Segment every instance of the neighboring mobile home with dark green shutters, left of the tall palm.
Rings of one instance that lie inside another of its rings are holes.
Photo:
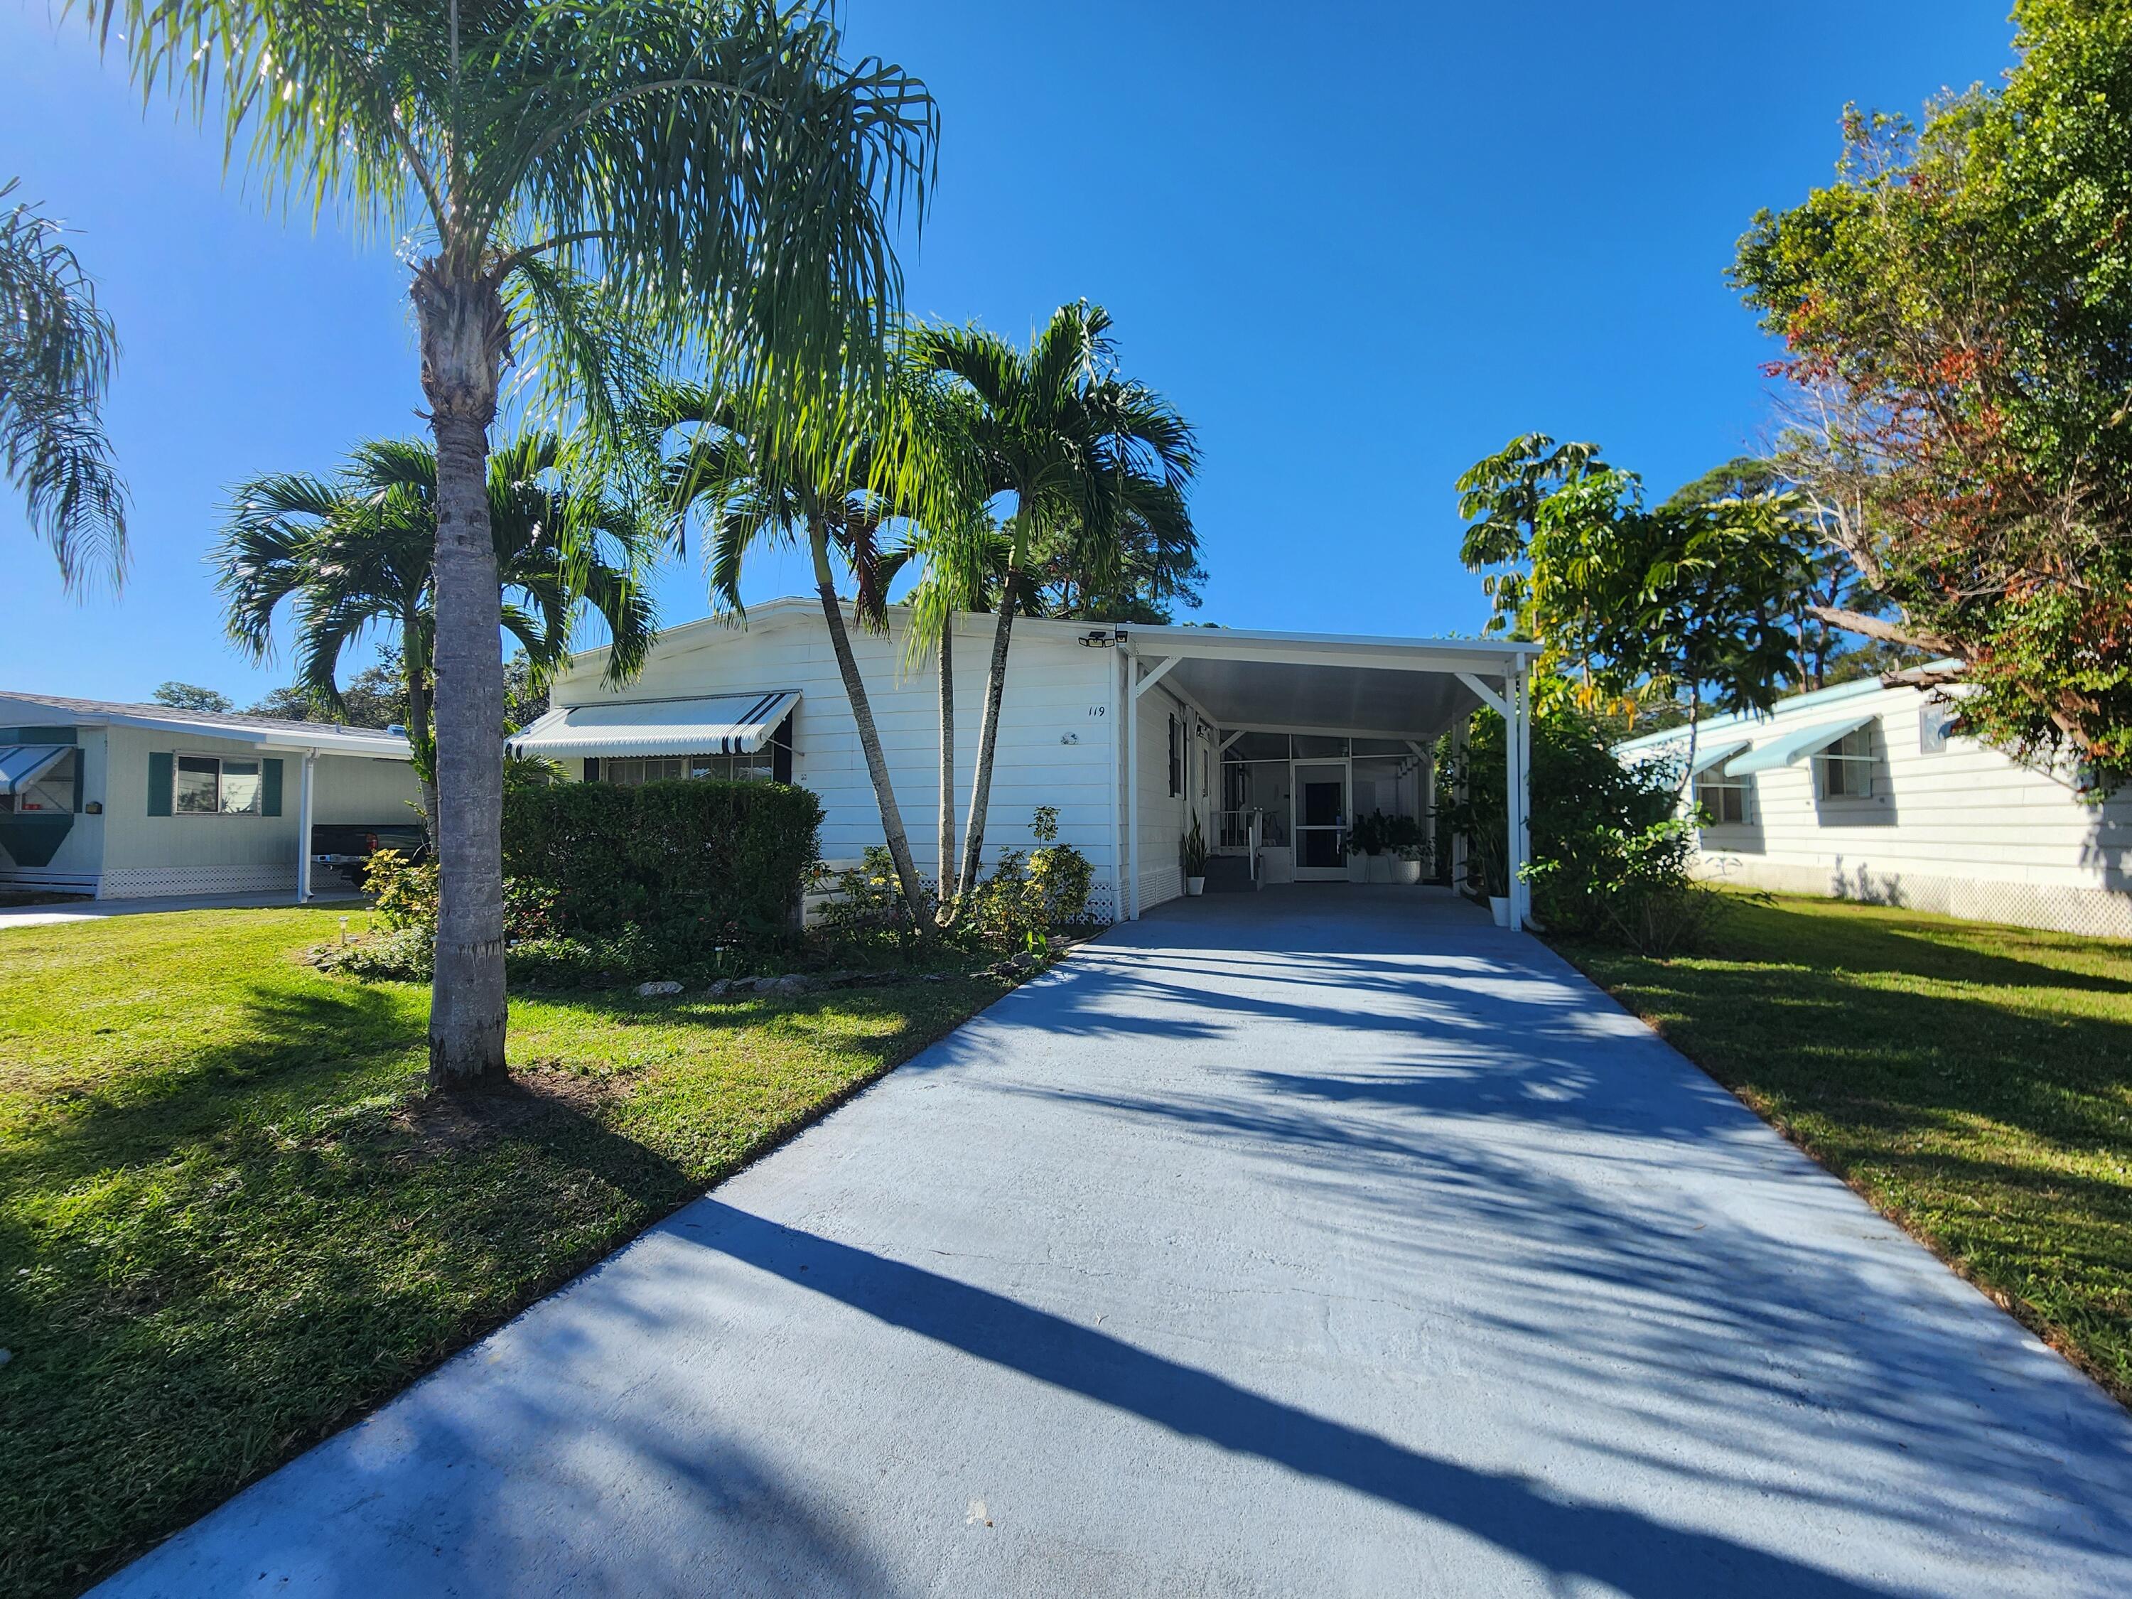
[[[0,887],[309,898],[313,823],[416,800],[399,733],[0,691]]]

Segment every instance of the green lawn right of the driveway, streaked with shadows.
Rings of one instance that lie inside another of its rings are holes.
[[[2132,944],[1727,895],[1563,953],[2132,1403]]]

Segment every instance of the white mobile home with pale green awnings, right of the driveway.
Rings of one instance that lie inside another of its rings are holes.
[[[1959,691],[1957,691],[1959,693]],[[2096,806],[2066,772],[1953,731],[1955,712],[1876,678],[1701,725],[1703,870],[1787,893],[2132,938],[2132,795]],[[1684,759],[1686,729],[1627,761]]]

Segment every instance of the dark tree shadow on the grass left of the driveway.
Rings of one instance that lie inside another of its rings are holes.
[[[241,1066],[309,1089],[356,1070]],[[104,1113],[70,1156],[141,1160],[175,1109],[211,1160],[147,1162],[58,1224],[0,1215],[0,1341],[17,1350],[0,1590],[77,1590],[701,1192],[524,1083],[414,1098],[328,1145],[205,1094]],[[28,1286],[17,1258],[38,1262]]]

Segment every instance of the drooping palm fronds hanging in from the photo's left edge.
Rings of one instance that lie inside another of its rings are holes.
[[[0,213],[0,473],[79,588],[92,567],[126,576],[126,486],[102,418],[119,341],[60,232],[26,203]]]

